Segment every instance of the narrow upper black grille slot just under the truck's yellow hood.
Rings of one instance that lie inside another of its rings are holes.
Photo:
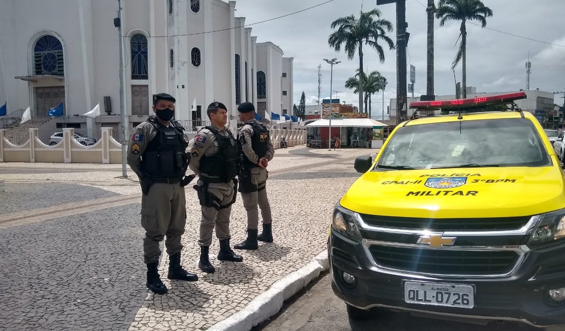
[[[418,230],[516,230],[528,224],[531,216],[496,218],[423,219],[418,217],[390,217],[361,215],[363,221],[373,227]]]

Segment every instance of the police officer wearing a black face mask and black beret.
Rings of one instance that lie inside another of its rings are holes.
[[[185,172],[188,168],[188,137],[184,128],[172,119],[175,98],[167,93],[153,95],[155,115],[133,130],[128,143],[128,164],[140,178],[141,226],[145,229],[144,262],[147,264],[147,288],[167,293],[158,273],[159,242],[167,236],[169,255],[167,278],[196,281],[198,276],[182,268],[181,235],[186,223]]]

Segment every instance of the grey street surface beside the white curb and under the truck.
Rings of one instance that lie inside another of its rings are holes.
[[[328,272],[316,284],[290,299],[279,315],[258,325],[253,331],[540,331],[544,329],[522,323],[490,322],[487,325],[460,323],[431,317],[416,317],[405,312],[375,311],[374,317],[353,321],[347,317],[345,303],[331,289]],[[546,328],[546,331],[565,331],[563,326]]]

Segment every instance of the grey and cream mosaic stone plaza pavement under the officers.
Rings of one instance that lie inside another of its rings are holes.
[[[200,210],[187,186],[182,264],[200,280],[167,280],[165,258],[167,295],[145,288],[137,178],[119,178],[119,164],[1,163],[0,330],[207,329],[325,249],[332,208],[358,177],[353,159],[371,152],[277,150],[268,182],[275,243],[220,263],[215,240],[213,275],[197,268]],[[232,245],[245,228],[238,198]]]

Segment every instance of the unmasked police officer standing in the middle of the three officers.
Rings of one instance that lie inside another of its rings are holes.
[[[215,271],[208,253],[212,232],[220,240],[218,260],[242,262],[244,258],[229,246],[229,217],[236,201],[238,147],[236,138],[225,127],[228,122],[227,108],[221,102],[212,102],[206,113],[211,125],[202,128],[190,142],[189,167],[199,177],[194,189],[202,208],[200,222],[200,261],[198,267],[207,273]]]

